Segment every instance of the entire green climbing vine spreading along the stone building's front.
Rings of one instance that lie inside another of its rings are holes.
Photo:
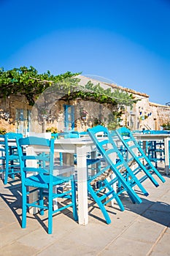
[[[94,85],[90,81],[80,85],[77,75],[80,73],[66,72],[61,75],[52,75],[50,71],[39,74],[34,67],[20,67],[5,71],[0,68],[0,97],[11,94],[22,94],[29,105],[34,105],[36,99],[49,87],[48,100],[51,100],[56,91],[61,91],[63,99],[81,99],[105,104],[111,110],[114,118],[110,120],[110,127],[116,127],[126,106],[133,106],[136,102],[133,94],[120,89],[104,89],[100,83]],[[40,108],[41,112],[43,109]]]

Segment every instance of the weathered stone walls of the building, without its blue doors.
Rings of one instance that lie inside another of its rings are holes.
[[[88,83],[90,78],[83,78],[83,83]],[[92,83],[94,81],[92,80]],[[96,81],[98,83],[99,81]],[[102,85],[102,83],[101,83]],[[104,83],[104,88],[113,85]],[[116,86],[117,88],[117,86]],[[121,88],[123,89],[123,88]],[[158,105],[149,102],[147,94],[139,93],[131,89],[125,89],[128,93],[132,93],[134,98],[139,99],[133,108],[126,107],[122,115],[121,125],[129,129],[161,129],[163,124],[170,122],[170,107],[166,105]],[[47,127],[55,127],[58,132],[64,130],[64,109],[63,105],[74,105],[74,125],[75,130],[85,131],[88,127],[92,127],[95,120],[107,123],[107,117],[111,112],[107,106],[100,105],[96,102],[85,101],[70,101],[65,102],[58,100],[54,102],[53,106],[47,113],[45,120],[40,120],[39,114],[34,108],[28,105],[26,98],[22,95],[12,95],[6,99],[0,98],[0,129],[6,129],[7,132],[16,132],[18,127],[18,120],[16,117],[16,110],[34,110],[31,113],[31,131],[42,132]],[[87,111],[86,116],[82,116],[81,110]],[[44,127],[42,127],[44,125]]]

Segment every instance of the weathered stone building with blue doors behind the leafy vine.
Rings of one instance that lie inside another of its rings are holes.
[[[82,75],[78,77],[81,85],[85,85],[90,80],[93,84],[100,83],[104,89],[119,89],[133,94],[135,99],[139,99],[132,109],[125,107],[121,116],[121,126],[141,130],[161,129],[163,124],[169,122],[170,107],[150,102],[147,94]],[[21,132],[25,135],[30,130],[34,132],[45,131],[47,127],[56,127],[59,132],[64,129],[83,131],[92,127],[98,119],[106,122],[106,116],[109,115],[106,104],[83,102],[80,99],[58,100],[50,106],[48,112],[43,116],[42,113],[39,115],[34,108],[28,105],[26,98],[20,94],[11,95],[5,99],[0,98],[0,130],[6,129],[7,132]]]

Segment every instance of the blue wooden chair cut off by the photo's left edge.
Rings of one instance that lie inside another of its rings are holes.
[[[14,179],[15,174],[20,173],[17,140],[22,137],[22,134],[15,132],[0,135],[0,159],[3,165],[0,171],[4,173],[4,184],[7,184],[9,176]]]

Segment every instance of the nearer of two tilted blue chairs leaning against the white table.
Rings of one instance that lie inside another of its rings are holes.
[[[98,132],[104,132],[105,137],[98,138]],[[115,198],[117,204],[120,206],[120,210],[123,211],[124,207],[119,198],[120,194],[127,192],[133,203],[142,203],[141,198],[136,194],[133,187],[137,185],[144,195],[148,195],[148,193],[123,159],[123,156],[115,145],[108,129],[106,127],[97,126],[88,129],[88,133],[106,162],[106,167],[101,168],[96,175],[89,177],[88,192],[90,192],[90,195],[96,201],[99,208],[101,208],[101,212],[104,214],[104,217],[109,224],[111,220],[104,207],[106,203]],[[111,175],[111,173],[115,175]],[[96,190],[96,187],[94,187],[93,184],[100,180],[101,186]],[[119,187],[119,189],[114,189],[114,185],[119,183],[121,184],[121,187]]]

